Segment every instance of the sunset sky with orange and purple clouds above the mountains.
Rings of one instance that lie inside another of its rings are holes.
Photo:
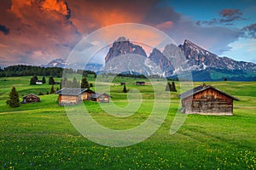
[[[93,31],[122,23],[153,26],[177,44],[189,39],[218,56],[256,63],[255,11],[255,0],[1,0],[0,66],[67,59]]]

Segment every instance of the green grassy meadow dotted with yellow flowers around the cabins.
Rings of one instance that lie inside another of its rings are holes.
[[[36,104],[18,108],[6,105],[12,86],[20,97],[50,91],[48,84],[29,85],[30,78],[0,78],[2,169],[256,169],[256,82],[207,82],[241,99],[235,101],[234,116],[189,115],[177,133],[170,135],[179,104],[176,82],[177,93],[171,94],[168,115],[157,132],[139,144],[116,148],[85,139],[69,121],[65,108],[58,106],[55,94],[40,96],[42,102]],[[124,118],[109,116],[91,101],[74,107],[86,105],[97,122],[113,129],[136,127],[147,119],[154,104],[152,86],[135,86],[134,82],[142,80],[138,78],[118,77],[113,82],[97,78],[102,81],[96,89],[104,90],[103,84],[110,84],[112,102],[120,107],[128,101],[119,82],[126,82],[130,90],[140,90],[143,103],[139,110]],[[89,81],[94,79],[90,77]],[[160,82],[155,79],[154,83]]]

